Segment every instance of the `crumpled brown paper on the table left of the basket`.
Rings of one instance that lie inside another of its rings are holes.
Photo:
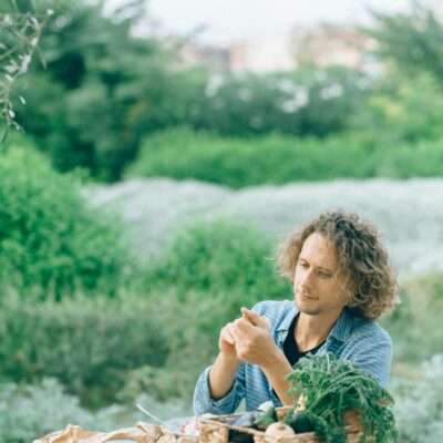
[[[113,432],[84,431],[80,426],[69,424],[63,431],[52,432],[33,443],[104,443],[113,440],[131,440],[138,443],[190,443],[193,437],[176,437],[164,427],[138,422],[135,427],[121,429]]]

